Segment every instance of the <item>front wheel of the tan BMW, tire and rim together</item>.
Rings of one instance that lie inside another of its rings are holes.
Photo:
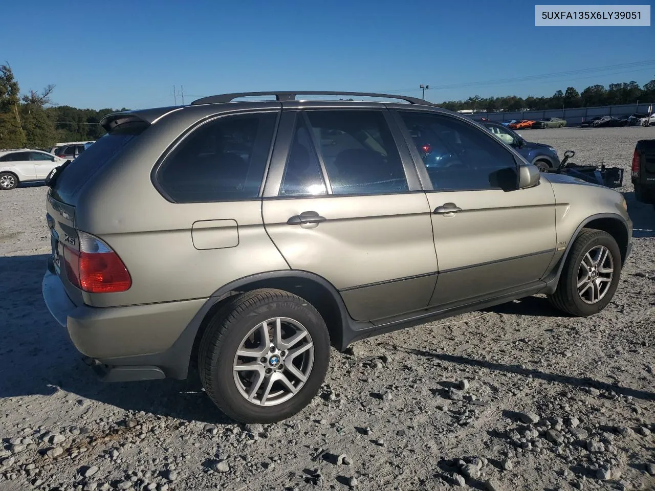
[[[548,298],[572,316],[597,314],[614,297],[621,268],[616,240],[603,230],[583,228],[571,246],[557,290]]]

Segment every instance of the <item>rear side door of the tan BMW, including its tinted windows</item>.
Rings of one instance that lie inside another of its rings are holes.
[[[334,285],[356,320],[424,308],[437,270],[430,209],[398,129],[377,106],[289,105],[263,202],[280,253]]]

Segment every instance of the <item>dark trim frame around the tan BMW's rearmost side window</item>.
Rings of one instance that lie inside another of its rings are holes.
[[[164,162],[166,162],[168,156],[170,156],[178,148],[178,145],[180,145],[183,141],[185,141],[185,139],[189,135],[191,135],[198,128],[200,128],[200,126],[203,126],[204,124],[208,124],[210,122],[214,122],[219,118],[240,117],[244,115],[258,115],[258,114],[271,114],[271,113],[274,113],[276,117],[273,123],[271,143],[269,143],[269,149],[267,151],[264,172],[261,177],[261,183],[259,184],[259,190],[257,191],[257,196],[253,196],[250,198],[229,199],[229,200],[177,201],[174,200],[174,198],[170,196],[170,194],[168,194],[168,192],[164,189],[164,187],[162,187],[162,185],[159,183],[159,171],[161,170],[161,167],[164,164]],[[280,110],[280,108],[276,107],[274,109],[253,109],[252,111],[239,111],[239,112],[214,114],[196,121],[194,124],[191,124],[191,126],[186,128],[178,137],[176,137],[176,139],[174,139],[174,141],[172,141],[172,143],[170,143],[168,147],[166,147],[166,149],[164,149],[161,155],[157,158],[155,164],[153,165],[153,168],[150,170],[150,182],[152,183],[153,187],[155,187],[157,192],[159,192],[162,198],[164,198],[169,203],[174,203],[174,204],[230,203],[230,202],[246,202],[246,201],[261,200],[265,189],[265,183],[267,181],[269,168],[271,167],[272,152],[274,149],[275,141],[277,139],[278,128],[280,127],[281,114],[282,111]]]

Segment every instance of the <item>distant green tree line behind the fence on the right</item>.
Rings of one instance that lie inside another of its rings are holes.
[[[470,97],[465,101],[443,101],[440,106],[451,111],[477,109],[495,113],[498,111],[521,111],[526,109],[562,109],[567,107],[593,107],[599,105],[655,103],[655,79],[640,87],[635,81],[610,84],[609,88],[596,84],[578,92],[567,87],[565,92],[557,90],[550,97],[521,98],[517,96]]]

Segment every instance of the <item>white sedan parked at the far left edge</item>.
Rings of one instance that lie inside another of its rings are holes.
[[[0,151],[0,190],[14,189],[20,183],[43,181],[64,158],[30,149]]]

